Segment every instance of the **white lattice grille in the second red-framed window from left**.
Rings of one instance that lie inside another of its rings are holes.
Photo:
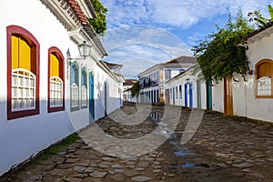
[[[63,106],[63,81],[58,76],[50,78],[50,107]]]

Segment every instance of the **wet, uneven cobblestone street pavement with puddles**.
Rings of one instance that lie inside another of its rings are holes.
[[[126,119],[143,119],[150,109],[153,119],[125,124]],[[82,139],[58,155],[20,167],[0,181],[273,181],[272,124],[205,111],[191,133],[186,129],[191,109],[143,105],[138,108],[142,116],[133,104],[122,110],[132,117],[116,111],[79,132]],[[186,133],[192,138],[181,145]]]

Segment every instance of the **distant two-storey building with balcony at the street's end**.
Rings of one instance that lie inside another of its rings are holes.
[[[138,74],[140,92],[138,102],[165,103],[165,83],[187,71],[197,63],[196,57],[179,56],[166,63],[157,64]]]

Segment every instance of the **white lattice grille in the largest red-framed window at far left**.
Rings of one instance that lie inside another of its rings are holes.
[[[12,111],[35,109],[35,79],[29,70],[12,70]]]

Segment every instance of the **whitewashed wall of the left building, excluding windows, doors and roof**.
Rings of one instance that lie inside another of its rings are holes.
[[[0,175],[2,175],[11,167],[24,162],[45,147],[49,147],[77,129],[88,125],[89,110],[85,108],[69,112],[70,81],[67,77],[65,61],[66,110],[47,113],[48,48],[51,46],[58,47],[65,58],[66,51],[69,48],[71,57],[80,57],[77,46],[69,38],[65,27],[40,1],[0,1],[0,8],[0,52],[2,53],[0,66]],[[6,26],[8,25],[24,27],[35,36],[40,44],[39,115],[6,120]],[[102,92],[102,98],[104,98],[105,93],[103,93],[103,90],[97,90],[98,80],[102,83],[107,81],[109,84],[108,94],[110,97],[113,97],[113,100],[109,99],[109,104],[107,104],[108,113],[119,107],[116,102],[116,97],[118,97],[116,96],[118,95],[116,88],[118,88],[118,84],[112,78],[109,78],[100,67],[96,66],[95,57],[97,56],[88,57],[82,63],[82,66],[86,66],[86,71],[88,72],[95,72],[95,114],[96,119],[98,119],[105,115],[105,103],[100,103],[100,98],[98,97],[98,93]],[[96,73],[98,73],[99,77],[97,77]]]

